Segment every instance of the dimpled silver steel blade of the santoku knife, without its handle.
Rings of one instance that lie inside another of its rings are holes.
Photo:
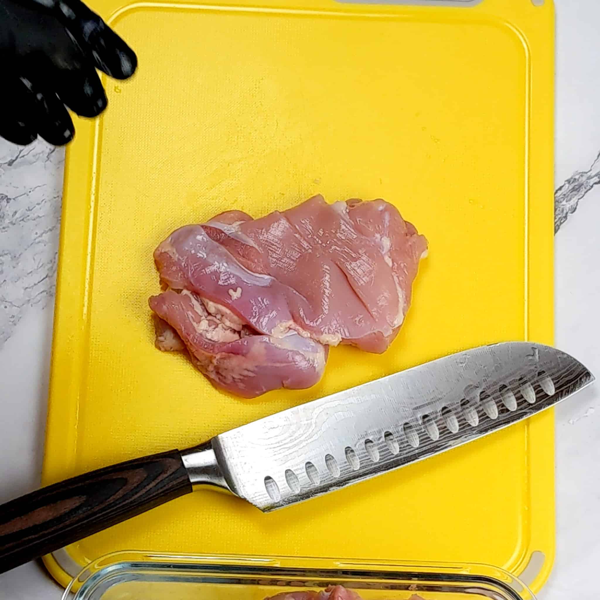
[[[484,346],[227,431],[211,446],[227,487],[272,511],[508,427],[592,380],[548,346]]]

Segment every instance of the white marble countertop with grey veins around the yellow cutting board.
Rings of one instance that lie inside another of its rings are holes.
[[[523,0],[526,1],[526,0]],[[600,3],[556,0],[556,346],[600,373]],[[0,140],[0,503],[41,470],[64,151]],[[569,214],[575,211],[574,214]],[[556,410],[557,558],[540,600],[595,600],[600,564],[600,386]],[[58,600],[29,563],[0,599]]]

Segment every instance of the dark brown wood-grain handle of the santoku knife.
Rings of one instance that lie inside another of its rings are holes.
[[[0,505],[0,573],[192,491],[178,450],[84,473]]]

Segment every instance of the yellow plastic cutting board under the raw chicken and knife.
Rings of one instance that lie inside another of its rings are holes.
[[[68,150],[44,484],[449,352],[552,343],[551,2],[92,4],[136,49],[139,71],[104,79],[109,109],[77,120]],[[319,385],[248,401],[154,348],[158,242],[224,209],[259,216],[315,193],[383,197],[429,240],[385,355],[333,349]],[[553,464],[549,412],[274,514],[196,493],[46,564],[63,584],[64,569],[119,549],[519,574],[541,551],[539,588],[554,554]]]

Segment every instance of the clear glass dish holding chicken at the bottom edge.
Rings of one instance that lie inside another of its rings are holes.
[[[263,600],[330,584],[365,600],[535,600],[518,578],[488,565],[142,552],[90,563],[63,600]]]

